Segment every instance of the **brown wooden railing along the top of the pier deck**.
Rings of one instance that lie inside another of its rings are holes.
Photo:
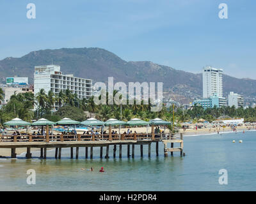
[[[132,133],[104,135],[0,135],[0,142],[79,142],[104,140],[172,140],[173,135]]]

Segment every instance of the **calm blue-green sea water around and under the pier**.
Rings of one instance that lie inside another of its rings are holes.
[[[232,143],[236,140],[236,143]],[[243,143],[239,143],[243,140]],[[54,150],[47,152],[49,159],[0,159],[1,191],[255,191],[256,190],[256,131],[225,133],[222,135],[184,136],[185,157],[179,152],[164,157],[159,143],[159,157],[155,145],[151,157],[144,145],[140,157],[136,146],[134,159],[128,159],[123,145],[122,159],[109,148],[109,159],[99,158],[99,149],[93,149],[93,159],[84,159],[84,148],[79,159],[70,159],[70,149],[62,150],[60,160],[54,159]],[[106,149],[104,148],[104,151]],[[74,153],[75,153],[74,149]],[[90,151],[89,151],[90,155]],[[99,173],[101,166],[105,173]],[[87,171],[93,167],[95,171]],[[228,171],[228,184],[220,185],[220,169]],[[26,183],[26,171],[36,171],[36,184]],[[84,170],[83,170],[84,169]]]

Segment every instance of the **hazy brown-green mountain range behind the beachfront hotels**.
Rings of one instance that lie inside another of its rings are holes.
[[[1,82],[5,77],[29,77],[33,84],[34,67],[58,64],[65,74],[91,78],[93,82],[163,82],[164,94],[181,103],[202,98],[202,73],[190,73],[150,61],[124,61],[102,48],[60,48],[38,50],[22,57],[6,57],[0,61]],[[198,68],[198,72],[201,71]],[[225,71],[225,68],[224,68]],[[256,97],[256,80],[223,75],[223,94],[234,91],[245,98]]]

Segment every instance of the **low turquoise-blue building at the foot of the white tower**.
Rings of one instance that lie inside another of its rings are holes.
[[[227,99],[223,97],[218,97],[217,94],[213,94],[210,98],[200,99],[193,101],[193,105],[200,105],[203,108],[217,108],[227,106]]]

